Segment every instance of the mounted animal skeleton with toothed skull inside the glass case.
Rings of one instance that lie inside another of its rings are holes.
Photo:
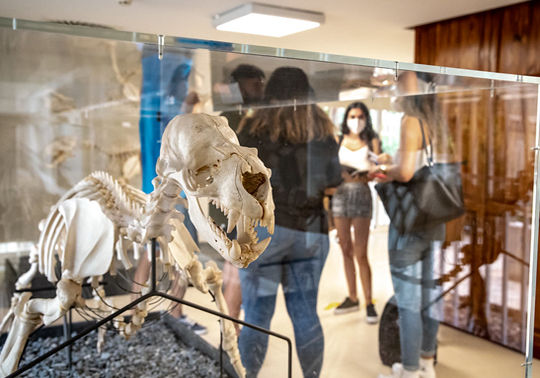
[[[57,296],[31,299],[31,294],[24,292],[13,297],[0,329],[12,320],[0,354],[0,376],[17,369],[30,333],[41,323],[49,325],[71,307],[85,305],[81,284],[86,277],[93,277],[96,288],[99,276],[107,271],[114,274],[116,260],[129,269],[128,248],[132,246],[138,257],[151,239],[159,243],[165,271],[176,264],[198,290],[212,290],[219,311],[227,314],[221,271],[213,262],[203,268],[198,261],[194,253],[197,246],[175,206],[189,203],[192,221],[209,244],[233,265],[247,267],[270,242],[270,238],[258,241],[254,230],[257,224],[273,233],[271,172],[257,157],[256,149],[239,145],[224,117],[205,114],[177,116],[169,123],[156,171],[154,191],[149,195],[96,172],[53,206],[40,224],[41,236],[30,256],[31,269],[19,278],[17,288],[29,287],[39,270],[49,281],[57,282]],[[179,198],[181,191],[187,201]],[[204,198],[228,216],[228,232],[236,226],[237,239],[230,240],[211,217],[204,215],[200,203]],[[60,280],[54,273],[56,255],[62,263]],[[122,333],[126,337],[135,334],[146,314],[147,303],[143,301],[135,308],[130,323],[121,324]],[[222,331],[224,349],[238,375],[244,377],[232,323],[222,322]]]

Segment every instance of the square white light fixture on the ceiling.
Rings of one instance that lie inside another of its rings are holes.
[[[214,16],[221,31],[283,37],[314,29],[324,23],[324,14],[301,9],[246,3]]]

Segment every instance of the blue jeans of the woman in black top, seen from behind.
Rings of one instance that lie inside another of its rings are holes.
[[[261,240],[267,237],[263,235],[265,229],[257,231]],[[324,336],[317,315],[317,295],[328,250],[327,234],[276,226],[266,251],[247,269],[240,269],[248,323],[270,329],[277,290],[280,284],[283,286],[304,377],[318,377],[322,367]],[[266,356],[268,335],[244,327],[239,348],[247,377],[256,377]]]

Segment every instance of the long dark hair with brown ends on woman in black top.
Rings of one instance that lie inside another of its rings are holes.
[[[295,67],[276,69],[264,91],[269,107],[259,109],[245,118],[238,132],[249,127],[249,134],[267,134],[275,142],[281,139],[292,144],[322,140],[334,135],[335,126],[326,113],[315,104],[313,90],[304,71]]]

